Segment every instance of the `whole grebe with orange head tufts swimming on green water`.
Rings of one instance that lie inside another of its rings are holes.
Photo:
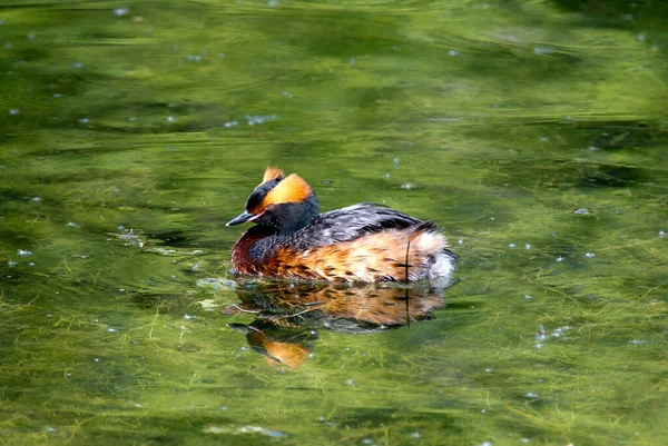
[[[387,206],[362,202],[320,212],[298,175],[267,167],[245,210],[253,222],[234,244],[232,270],[258,277],[335,283],[449,280],[459,257],[436,225]]]

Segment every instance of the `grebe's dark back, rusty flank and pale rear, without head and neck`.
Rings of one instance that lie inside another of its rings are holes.
[[[452,256],[433,222],[360,204],[321,214],[311,225],[272,240],[257,272],[344,281],[420,280],[449,276]]]

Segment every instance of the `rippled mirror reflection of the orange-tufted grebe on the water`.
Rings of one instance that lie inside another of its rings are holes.
[[[443,284],[350,286],[282,280],[239,283],[239,304],[227,314],[254,314],[250,324],[229,324],[272,366],[299,367],[313,351],[317,329],[372,334],[433,318],[444,305]]]

